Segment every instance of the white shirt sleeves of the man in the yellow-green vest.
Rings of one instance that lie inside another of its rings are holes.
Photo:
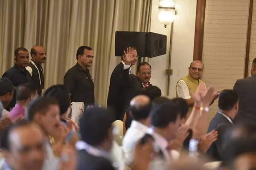
[[[206,85],[204,84],[205,88]],[[188,85],[184,80],[179,80],[176,84],[176,94],[177,97],[181,97],[183,99],[190,99],[190,93],[189,93],[189,88]]]

